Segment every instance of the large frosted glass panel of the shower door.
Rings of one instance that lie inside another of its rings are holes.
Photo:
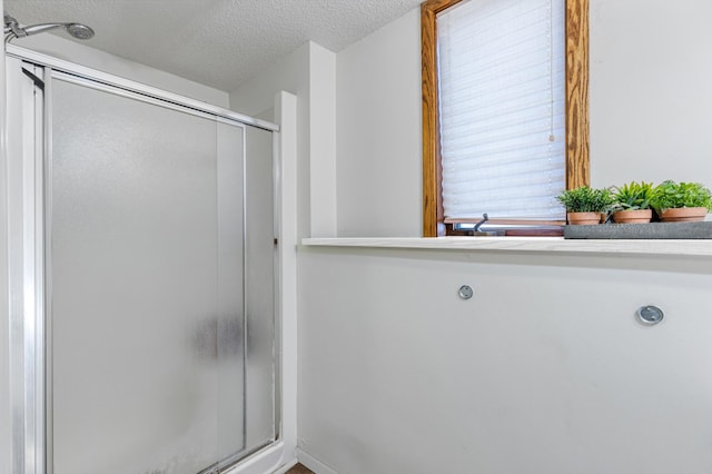
[[[52,82],[53,474],[195,474],[245,444],[241,128],[126,96]]]

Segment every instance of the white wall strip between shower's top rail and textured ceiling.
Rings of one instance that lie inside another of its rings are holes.
[[[55,34],[38,34],[12,41],[12,45],[17,47],[32,49],[81,66],[179,93],[191,99],[201,100],[214,106],[222,108],[229,107],[228,93],[222,90],[204,86],[154,69],[149,66],[132,62],[118,56],[109,55],[108,52],[99,51],[91,48],[90,43],[91,41],[86,45],[78,43]]]

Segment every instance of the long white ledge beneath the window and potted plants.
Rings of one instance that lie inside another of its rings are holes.
[[[712,240],[564,239],[563,237],[338,237],[305,238],[305,247],[363,247],[606,255],[670,255],[712,258]]]

